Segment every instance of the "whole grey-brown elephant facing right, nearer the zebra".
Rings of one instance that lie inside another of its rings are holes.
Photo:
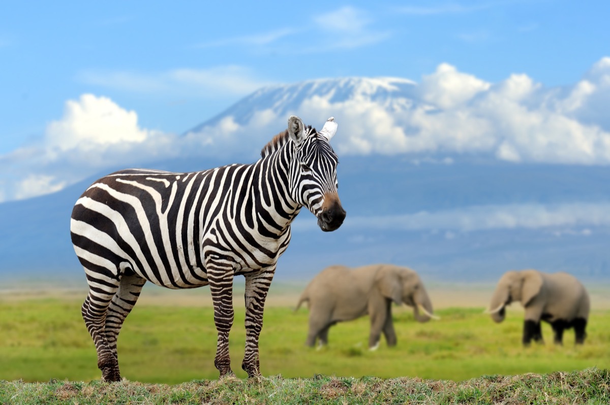
[[[368,347],[379,346],[381,333],[387,345],[397,343],[392,321],[392,302],[413,307],[415,319],[426,322],[437,319],[422,280],[414,270],[392,264],[374,264],[349,269],[331,266],[322,270],[301,294],[298,310],[304,301],[309,305],[309,334],[306,344],[320,347],[328,344],[328,329],[337,322],[369,314],[371,320]],[[420,313],[421,311],[421,313]]]

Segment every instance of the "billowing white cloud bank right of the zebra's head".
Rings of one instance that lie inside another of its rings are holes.
[[[402,101],[402,102],[401,102]],[[525,74],[487,83],[442,64],[411,93],[304,100],[303,115],[329,111],[343,153],[482,154],[515,163],[609,164],[610,58],[569,88]]]

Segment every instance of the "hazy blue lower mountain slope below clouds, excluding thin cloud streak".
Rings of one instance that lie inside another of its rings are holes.
[[[182,170],[185,166],[196,163],[168,161],[156,167]],[[525,176],[528,181],[522,180]],[[0,275],[81,276],[70,243],[70,214],[92,180],[43,197],[0,204]],[[280,261],[279,278],[307,280],[330,264],[364,262],[397,262],[426,269],[443,280],[494,280],[498,273],[518,267],[610,276],[610,253],[604,247],[610,236],[605,227],[462,230],[458,225],[446,228],[444,223],[437,227],[434,223],[414,227],[361,223],[370,217],[459,213],[472,206],[599,202],[610,183],[610,172],[604,168],[415,166],[398,158],[345,158],[339,182],[348,213],[343,227],[322,233],[312,214],[303,211],[295,221],[292,244]]]

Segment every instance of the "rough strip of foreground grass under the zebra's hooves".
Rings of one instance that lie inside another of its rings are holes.
[[[117,383],[0,381],[0,403],[15,404],[608,404],[610,372],[589,368],[465,382],[419,378],[315,376],[224,378],[175,386]]]

